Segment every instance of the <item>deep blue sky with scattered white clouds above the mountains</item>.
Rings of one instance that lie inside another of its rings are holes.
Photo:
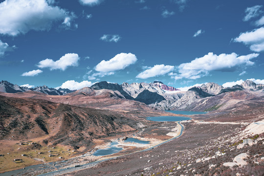
[[[263,0],[0,0],[0,79],[264,84]]]

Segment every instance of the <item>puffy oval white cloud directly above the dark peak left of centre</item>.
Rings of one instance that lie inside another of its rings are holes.
[[[114,56],[109,61],[101,61],[95,70],[99,72],[110,72],[124,69],[125,67],[134,64],[137,61],[136,56],[132,53],[120,53]]]

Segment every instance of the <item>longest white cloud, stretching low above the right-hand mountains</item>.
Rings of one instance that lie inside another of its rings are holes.
[[[209,74],[212,70],[230,69],[235,66],[252,66],[254,62],[250,60],[258,56],[259,54],[256,53],[238,56],[236,53],[216,55],[209,52],[190,63],[179,65],[177,67],[179,74],[176,75],[176,79],[198,79]]]

